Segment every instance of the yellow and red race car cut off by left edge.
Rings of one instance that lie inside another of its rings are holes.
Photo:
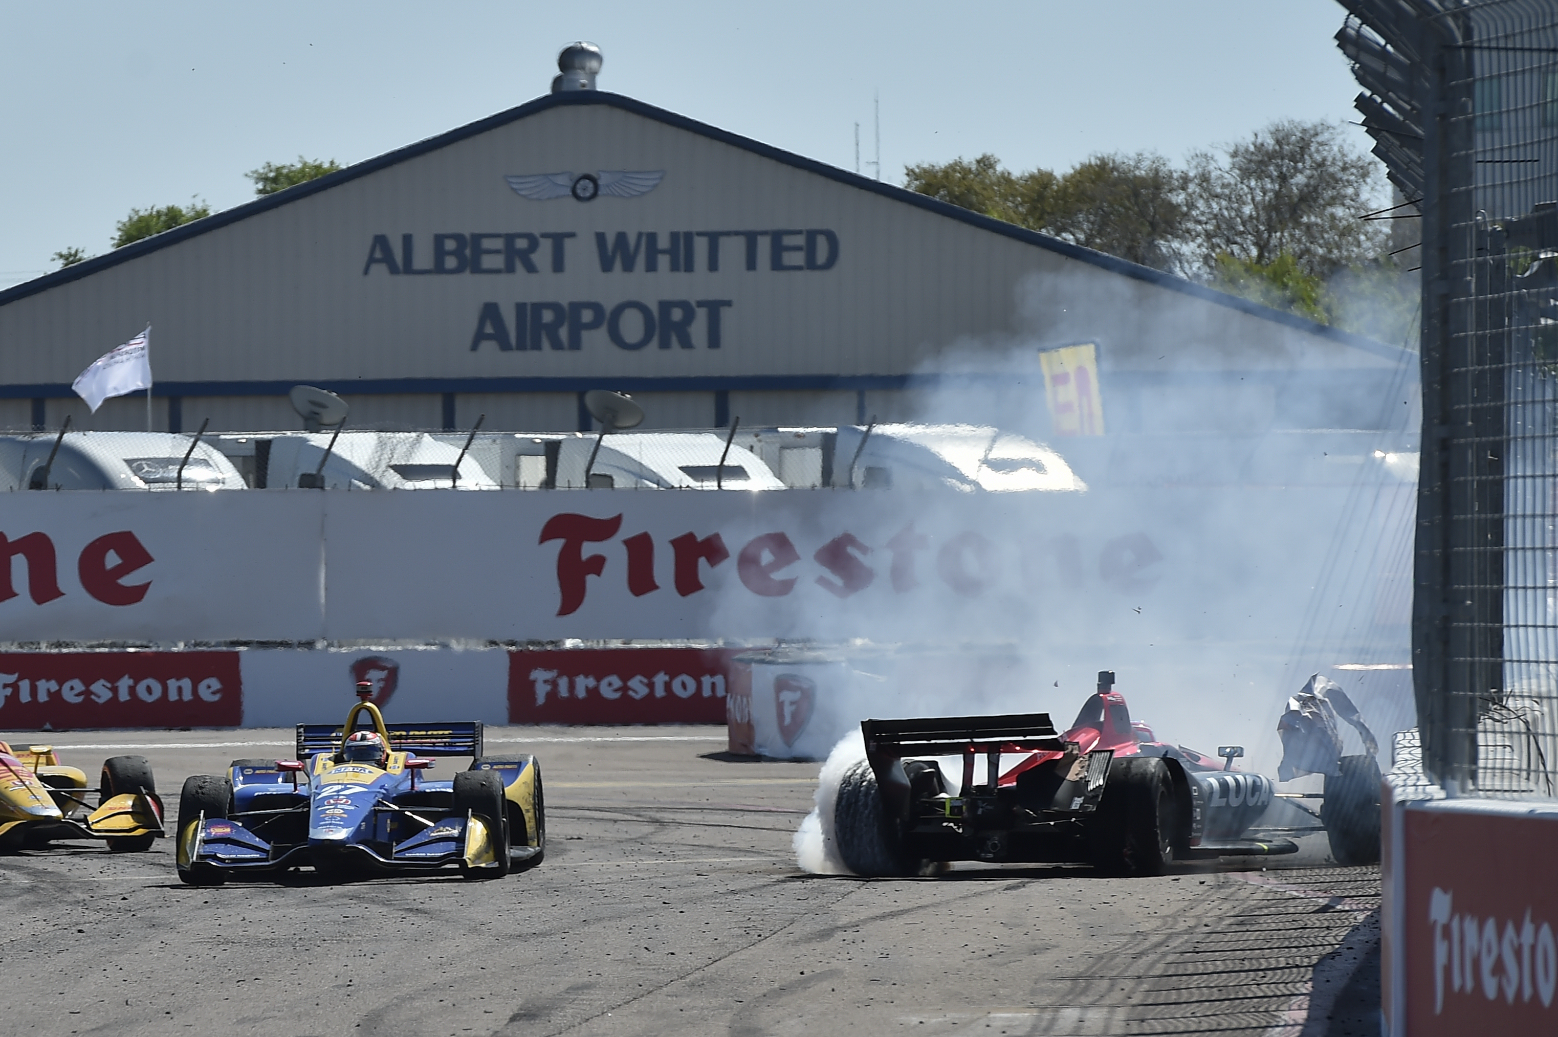
[[[104,839],[115,853],[137,853],[162,835],[162,799],[145,757],[104,760],[93,793],[53,746],[12,751],[0,741],[0,853],[53,839]]]

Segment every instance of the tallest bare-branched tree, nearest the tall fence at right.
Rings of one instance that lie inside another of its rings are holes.
[[[1225,255],[1253,268],[1288,255],[1320,279],[1368,263],[1387,232],[1359,216],[1379,196],[1379,163],[1329,123],[1276,121],[1220,154],[1190,156],[1192,240],[1212,274]]]

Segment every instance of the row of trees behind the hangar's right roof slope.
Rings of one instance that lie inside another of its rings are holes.
[[[992,154],[905,170],[932,198],[1181,274],[1278,310],[1384,341],[1410,341],[1416,285],[1385,251],[1379,163],[1341,128],[1276,121],[1192,153],[1094,156],[1056,176]]]

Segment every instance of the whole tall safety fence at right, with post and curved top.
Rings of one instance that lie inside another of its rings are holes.
[[[1450,794],[1558,796],[1558,0],[1341,3],[1422,221],[1422,765]]]

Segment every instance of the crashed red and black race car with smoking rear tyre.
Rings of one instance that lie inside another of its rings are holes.
[[[866,758],[834,802],[838,855],[857,875],[929,875],[947,861],[1161,875],[1176,859],[1296,853],[1287,836],[1321,828],[1334,850],[1348,847],[1349,859],[1335,853],[1341,863],[1362,863],[1371,839],[1379,853],[1373,755],[1349,763],[1335,785],[1327,777],[1323,796],[1282,794],[1271,779],[1234,769],[1240,746],[1207,757],[1158,741],[1131,721],[1111,671],[1064,733],[1047,713],[868,719],[860,729]],[[1321,797],[1318,814],[1299,802]],[[1257,827],[1276,799],[1321,824]]]

